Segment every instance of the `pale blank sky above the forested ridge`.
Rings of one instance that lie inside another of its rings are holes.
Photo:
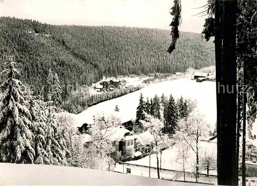
[[[3,1],[3,0],[0,0]],[[181,0],[181,31],[201,32],[203,16],[192,16],[207,0]],[[1,16],[49,24],[116,25],[170,29],[173,0],[4,0]]]

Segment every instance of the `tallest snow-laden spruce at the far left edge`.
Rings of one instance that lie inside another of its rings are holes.
[[[25,106],[22,87],[17,78],[19,70],[12,57],[5,63],[7,80],[1,85],[4,95],[0,101],[0,161],[9,163],[33,163],[31,116]]]

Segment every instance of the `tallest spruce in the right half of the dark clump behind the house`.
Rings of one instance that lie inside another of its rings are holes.
[[[167,122],[171,127],[171,134],[175,133],[175,129],[177,127],[178,115],[177,115],[177,107],[174,98],[170,95],[169,105],[167,110]]]

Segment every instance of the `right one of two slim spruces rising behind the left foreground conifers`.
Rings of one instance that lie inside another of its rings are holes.
[[[62,88],[57,73],[55,73],[55,75],[53,76],[52,101],[53,105],[56,107],[60,107],[60,105],[62,104]]]

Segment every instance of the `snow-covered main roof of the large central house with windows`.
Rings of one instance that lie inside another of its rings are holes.
[[[130,133],[128,129],[125,129],[123,126],[110,127],[106,130],[103,130],[102,133],[105,137],[108,137],[111,141],[120,141],[126,133]]]

